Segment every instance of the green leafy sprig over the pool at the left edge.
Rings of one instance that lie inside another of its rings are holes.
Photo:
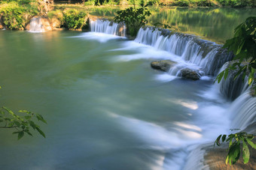
[[[44,132],[38,124],[35,124],[35,121],[33,121],[36,118],[38,121],[47,124],[44,118],[37,113],[26,110],[20,110],[19,112],[23,113],[23,115],[17,115],[4,106],[0,108],[0,128],[14,129],[13,134],[17,134],[18,140],[21,139],[24,134],[32,136],[30,132],[31,128],[38,131],[38,133],[45,138]]]

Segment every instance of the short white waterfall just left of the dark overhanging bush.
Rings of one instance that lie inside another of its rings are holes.
[[[113,34],[121,37],[126,36],[126,26],[107,19],[90,19],[90,31],[105,34]]]

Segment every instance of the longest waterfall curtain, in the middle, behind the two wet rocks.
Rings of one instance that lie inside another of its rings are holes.
[[[160,31],[151,27],[140,28],[135,41],[178,55],[184,61],[199,66],[206,75],[217,75],[221,66],[233,58],[230,52],[221,49],[221,45],[165,29]],[[175,71],[170,70],[170,73],[177,72],[177,68]]]

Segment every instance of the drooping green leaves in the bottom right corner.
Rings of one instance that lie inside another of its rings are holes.
[[[226,157],[226,164],[229,163],[230,166],[235,164],[240,157],[241,154],[241,147],[242,147],[242,159],[243,163],[248,163],[250,159],[250,151],[248,148],[248,145],[251,146],[251,148],[256,149],[256,145],[251,142],[251,140],[254,139],[254,136],[252,134],[239,132],[239,133],[231,133],[230,135],[220,135],[215,140],[214,145],[221,145],[221,142],[228,142],[228,152]]]

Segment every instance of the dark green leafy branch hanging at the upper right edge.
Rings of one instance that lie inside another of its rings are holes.
[[[240,74],[242,74],[242,79],[245,79],[247,75],[248,85],[252,85],[256,80],[256,17],[248,17],[245,22],[238,25],[234,37],[227,40],[223,48],[232,51],[236,57],[233,58],[233,64],[219,73],[215,81],[221,82],[223,77],[227,79],[230,70],[235,70],[234,79]],[[256,89],[255,86],[253,88]]]

